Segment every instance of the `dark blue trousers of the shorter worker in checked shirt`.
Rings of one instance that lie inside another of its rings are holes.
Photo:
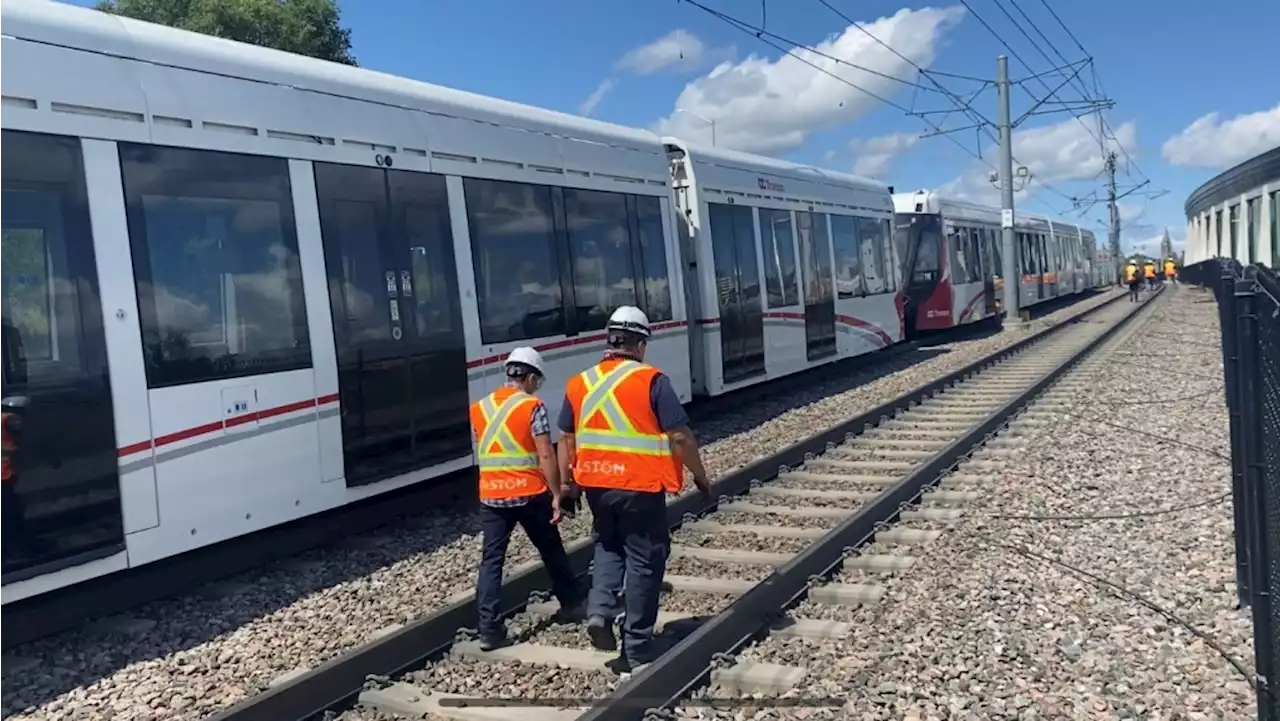
[[[499,630],[498,610],[502,604],[502,567],[507,558],[511,533],[520,525],[529,540],[543,557],[552,578],[552,593],[562,608],[580,601],[577,579],[568,563],[559,529],[552,525],[552,496],[543,493],[530,498],[524,506],[508,508],[480,505],[480,528],[484,530],[484,552],[480,557],[480,578],[476,580],[476,606],[480,610],[480,633]]]

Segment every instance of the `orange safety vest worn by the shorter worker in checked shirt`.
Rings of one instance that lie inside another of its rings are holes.
[[[508,385],[471,403],[481,501],[524,498],[547,490],[531,426],[536,409],[536,397]]]

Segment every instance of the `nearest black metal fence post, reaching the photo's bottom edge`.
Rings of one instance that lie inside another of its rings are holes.
[[[1276,708],[1270,693],[1272,670],[1271,638],[1271,574],[1268,535],[1280,529],[1267,528],[1268,505],[1274,501],[1266,487],[1262,455],[1262,365],[1258,357],[1257,283],[1252,278],[1234,284],[1238,319],[1236,377],[1240,420],[1240,462],[1244,470],[1245,498],[1249,508],[1251,534],[1248,538],[1249,585],[1253,602],[1253,657],[1258,681],[1258,721],[1276,721]],[[1233,458],[1235,452],[1233,448]],[[1270,534],[1268,534],[1270,531]]]

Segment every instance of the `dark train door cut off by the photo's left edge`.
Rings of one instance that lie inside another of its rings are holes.
[[[0,584],[124,548],[97,278],[79,141],[0,131]]]

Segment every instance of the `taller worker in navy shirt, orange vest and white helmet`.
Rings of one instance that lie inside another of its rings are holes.
[[[604,359],[568,382],[559,462],[561,474],[582,487],[598,535],[586,633],[600,651],[618,647],[613,624],[622,590],[622,653],[607,666],[625,674],[658,656],[652,640],[671,553],[667,494],[684,489],[681,462],[708,502],[712,487],[671,380],[644,362],[649,318],[622,306],[605,332]]]

